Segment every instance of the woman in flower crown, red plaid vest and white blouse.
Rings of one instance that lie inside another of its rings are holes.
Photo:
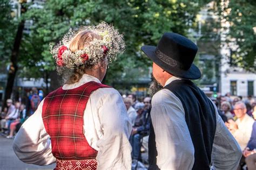
[[[117,90],[101,83],[125,49],[123,36],[101,23],[72,30],[51,53],[65,84],[52,91],[14,140],[18,158],[55,169],[131,169],[131,122]]]

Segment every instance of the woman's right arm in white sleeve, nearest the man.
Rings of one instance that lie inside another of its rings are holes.
[[[122,97],[116,93],[99,99],[103,138],[97,142],[97,169],[131,169],[131,121]]]

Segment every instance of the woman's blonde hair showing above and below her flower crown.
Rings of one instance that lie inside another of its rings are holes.
[[[78,50],[84,49],[84,47],[88,46],[93,39],[102,39],[99,34],[92,32],[92,31],[79,31],[76,36],[71,40],[69,49],[71,52],[76,52]],[[77,66],[73,70],[73,74],[69,77],[66,84],[73,84],[78,82],[83,74],[86,72],[86,68],[90,68],[91,65],[80,65]]]

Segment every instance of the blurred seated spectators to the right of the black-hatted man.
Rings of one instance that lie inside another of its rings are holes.
[[[256,101],[252,96],[244,100],[241,96],[231,97],[230,94],[213,101],[243,151],[238,170],[246,166],[248,170],[256,169]]]

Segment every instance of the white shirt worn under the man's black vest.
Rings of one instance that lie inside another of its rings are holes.
[[[165,86],[177,77],[171,77]],[[212,148],[211,169],[236,169],[241,157],[241,149],[216,114],[216,130]],[[158,91],[152,97],[152,124],[156,134],[157,165],[164,169],[192,169],[194,146],[185,121],[185,111],[179,98],[168,89]]]

